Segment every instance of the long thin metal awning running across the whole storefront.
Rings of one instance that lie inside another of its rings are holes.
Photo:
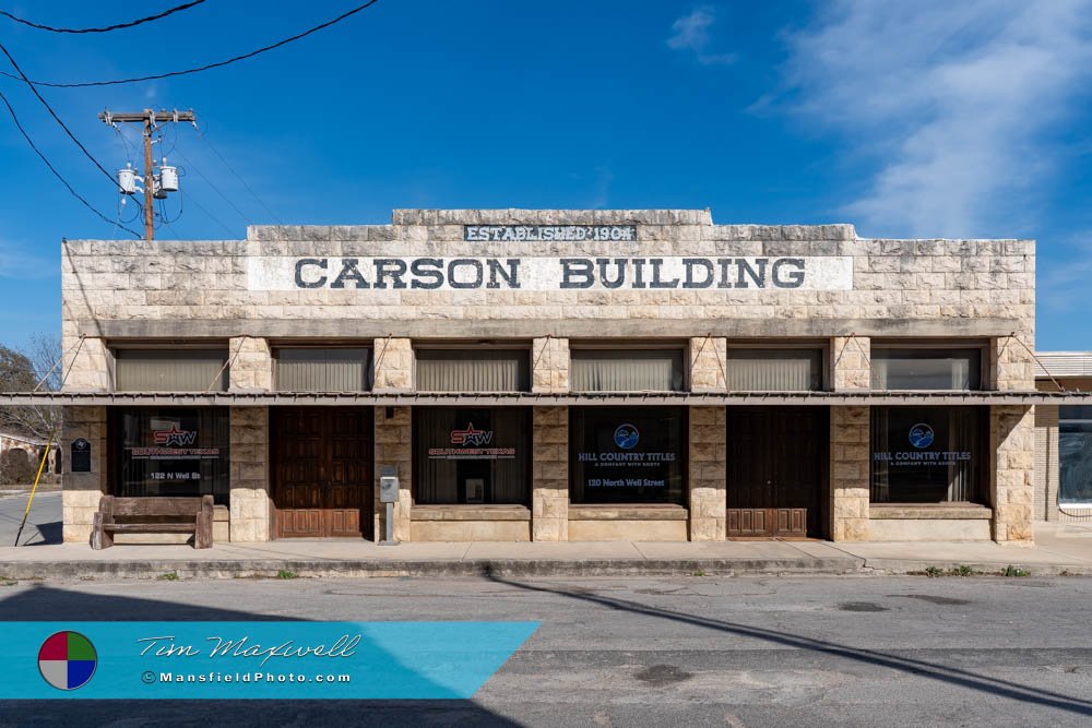
[[[1092,392],[0,392],[0,406],[1092,405]]]

